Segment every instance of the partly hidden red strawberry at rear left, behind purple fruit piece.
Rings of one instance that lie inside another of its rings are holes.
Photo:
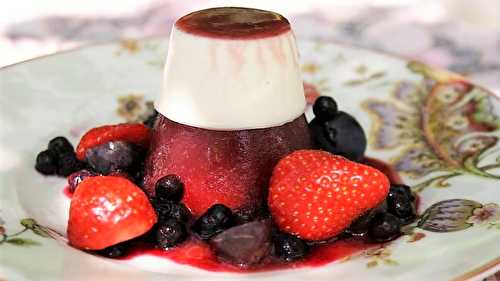
[[[106,125],[86,132],[76,148],[76,158],[83,161],[87,149],[110,141],[125,141],[147,147],[150,129],[143,124]]]

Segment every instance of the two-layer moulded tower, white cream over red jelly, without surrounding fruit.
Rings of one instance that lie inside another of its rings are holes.
[[[289,22],[248,8],[213,8],[174,25],[145,190],[176,174],[194,216],[221,203],[265,205],[273,167],[310,148],[298,52]]]

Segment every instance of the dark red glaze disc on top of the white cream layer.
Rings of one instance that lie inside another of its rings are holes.
[[[180,18],[175,27],[198,36],[218,39],[260,39],[290,30],[290,23],[280,14],[239,7],[211,8]]]

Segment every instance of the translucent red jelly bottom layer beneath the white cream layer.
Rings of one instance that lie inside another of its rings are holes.
[[[146,159],[145,190],[168,174],[185,184],[183,202],[195,217],[216,203],[234,211],[265,204],[272,170],[292,151],[311,148],[305,117],[278,127],[214,131],[182,125],[159,115]]]

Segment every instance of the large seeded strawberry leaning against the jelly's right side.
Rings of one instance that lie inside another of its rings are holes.
[[[381,203],[389,186],[372,167],[325,151],[298,150],[274,168],[268,204],[282,231],[325,240]]]

